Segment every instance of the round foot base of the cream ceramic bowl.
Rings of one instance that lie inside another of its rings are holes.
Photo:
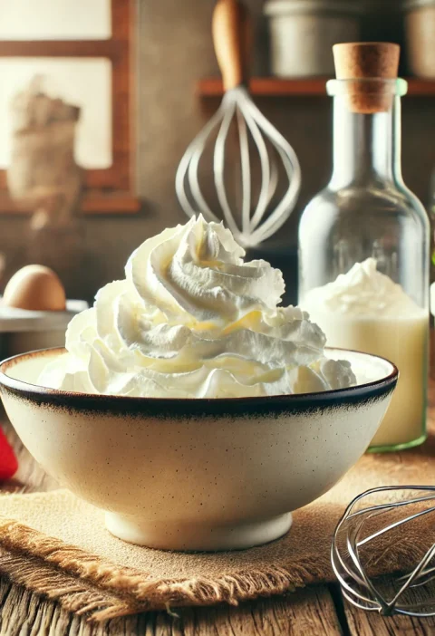
[[[106,513],[105,520],[109,532],[122,541],[185,552],[241,550],[266,544],[285,535],[292,525],[290,513],[237,525],[154,524],[117,513]]]

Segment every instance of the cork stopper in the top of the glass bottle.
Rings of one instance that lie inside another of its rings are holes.
[[[353,112],[373,113],[391,108],[391,84],[382,80],[397,79],[400,53],[399,44],[389,42],[333,45],[337,80],[355,80],[349,84],[350,108]]]

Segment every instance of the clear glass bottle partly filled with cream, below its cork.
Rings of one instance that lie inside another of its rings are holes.
[[[360,82],[372,82],[382,109],[354,108],[355,90],[364,90]],[[301,218],[298,302],[328,345],[381,355],[398,366],[400,380],[372,450],[408,448],[426,437],[430,225],[401,177],[407,82],[332,80],[327,91],[333,96],[333,175]],[[337,281],[338,275],[346,277]]]

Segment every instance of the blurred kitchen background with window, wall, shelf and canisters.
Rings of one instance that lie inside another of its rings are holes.
[[[246,4],[254,99],[302,169],[294,213],[253,255],[284,270],[286,300],[295,302],[298,218],[332,168],[332,103],[324,90],[331,36],[401,44],[401,75],[411,78],[402,101],[403,173],[430,208],[435,2],[282,0],[277,12],[261,0]],[[58,271],[69,297],[92,301],[102,284],[122,276],[140,242],[185,222],[176,170],[221,100],[213,6],[0,0],[2,288],[18,267],[41,262]],[[306,35],[296,42],[292,29]]]

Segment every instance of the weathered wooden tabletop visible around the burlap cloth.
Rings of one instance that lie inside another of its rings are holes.
[[[435,437],[435,382],[430,385],[430,435]],[[56,487],[29,456],[7,422],[3,428],[20,462],[19,480],[8,491]],[[434,444],[434,440],[429,440]],[[433,446],[432,446],[433,448]],[[0,636],[435,636],[435,618],[384,619],[356,610],[337,584],[248,602],[239,607],[177,609],[89,623],[58,603],[0,578]]]

